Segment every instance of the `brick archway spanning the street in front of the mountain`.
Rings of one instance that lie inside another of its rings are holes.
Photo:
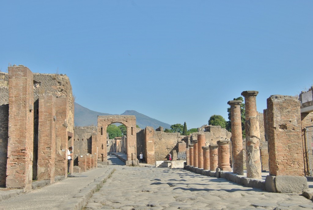
[[[98,160],[107,161],[106,128],[112,123],[121,123],[127,128],[127,160],[136,158],[136,116],[110,115],[98,116]]]

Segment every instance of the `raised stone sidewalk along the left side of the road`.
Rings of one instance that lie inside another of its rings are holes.
[[[110,166],[89,170],[51,185],[21,193],[0,202],[1,210],[80,210],[102,186],[114,169]],[[13,190],[16,191],[16,190]],[[1,191],[0,195],[12,193]]]

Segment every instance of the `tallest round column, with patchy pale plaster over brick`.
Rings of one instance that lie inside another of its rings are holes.
[[[256,110],[256,96],[258,91],[244,91],[246,110],[246,164],[248,178],[262,178],[262,165],[260,158],[260,130],[259,130],[259,113]]]

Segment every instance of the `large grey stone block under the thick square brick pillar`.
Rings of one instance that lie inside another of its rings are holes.
[[[280,193],[299,193],[309,189],[307,179],[304,176],[276,176],[275,186]]]

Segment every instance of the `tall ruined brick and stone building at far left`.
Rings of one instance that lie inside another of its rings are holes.
[[[29,191],[33,180],[66,177],[74,132],[69,78],[14,65],[0,73],[0,92],[0,186]]]

